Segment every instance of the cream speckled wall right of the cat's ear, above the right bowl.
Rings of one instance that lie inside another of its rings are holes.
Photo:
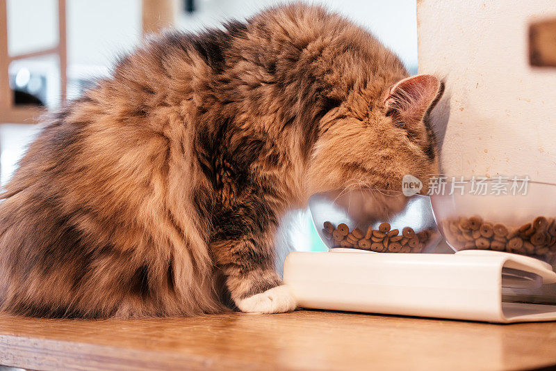
[[[528,24],[549,15],[556,1],[419,1],[419,72],[447,83],[435,118],[447,175],[556,182],[556,69],[528,63]]]

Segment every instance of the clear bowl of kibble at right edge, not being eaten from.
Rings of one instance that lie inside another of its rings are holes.
[[[477,192],[477,183],[458,182],[452,192],[455,183],[446,182],[441,194],[431,196],[436,224],[446,242],[455,251],[505,251],[554,264],[556,185],[527,182],[525,189],[512,189],[512,182],[507,187],[496,184],[498,178],[486,180],[486,191]]]

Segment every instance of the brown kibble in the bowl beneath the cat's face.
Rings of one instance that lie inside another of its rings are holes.
[[[334,224],[325,221],[322,233],[332,242],[332,247],[359,248],[379,253],[420,253],[432,235],[431,230],[416,233],[412,228],[391,229],[389,223],[382,223],[378,229],[350,228],[346,224]]]

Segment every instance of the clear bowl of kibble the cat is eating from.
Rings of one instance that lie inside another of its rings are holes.
[[[309,209],[328,248],[420,253],[441,239],[428,196],[374,189],[331,191],[311,196]]]

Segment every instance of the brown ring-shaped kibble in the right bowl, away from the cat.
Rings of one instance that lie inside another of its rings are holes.
[[[506,226],[480,216],[460,216],[442,222],[452,245],[458,250],[506,251],[523,255],[556,254],[556,221],[538,216],[523,226]]]

